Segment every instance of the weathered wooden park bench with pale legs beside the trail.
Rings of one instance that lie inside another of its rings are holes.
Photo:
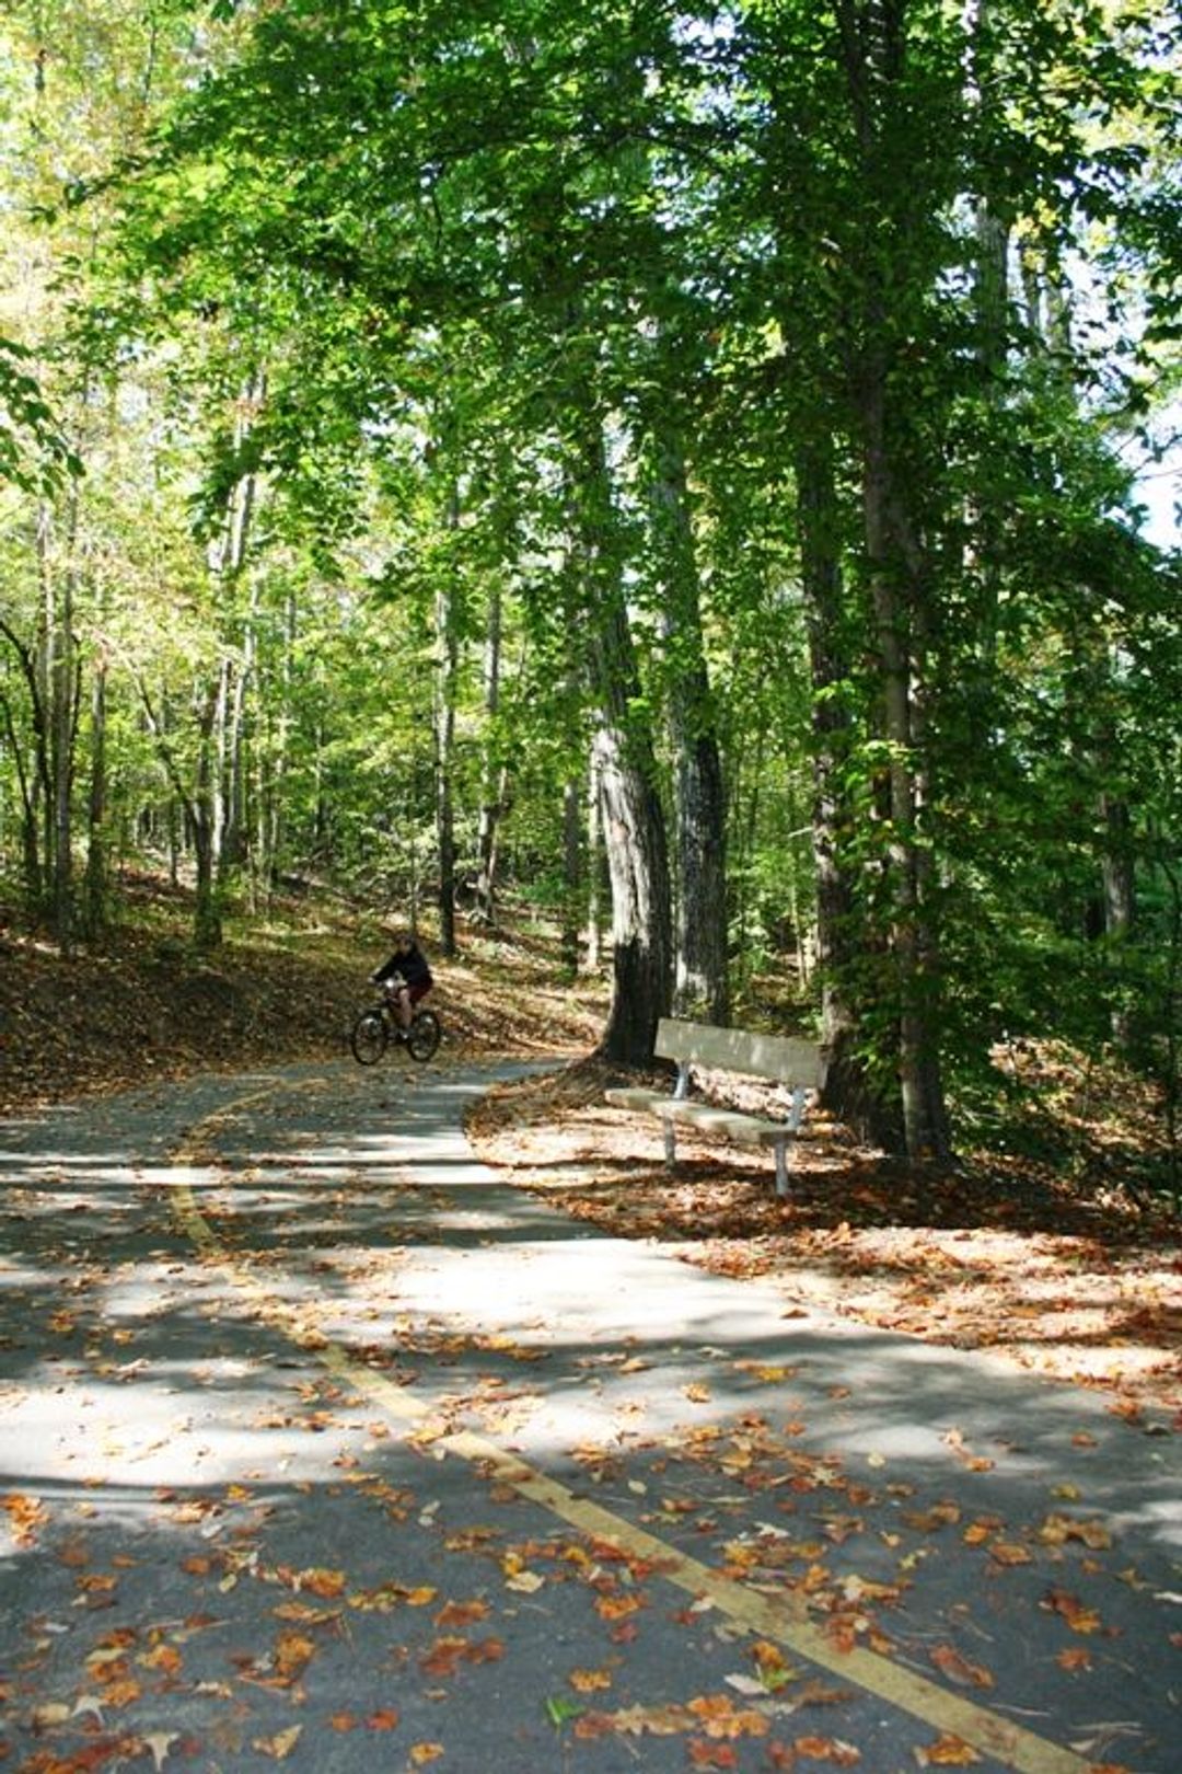
[[[824,1050],[817,1041],[785,1034],[748,1034],[743,1029],[716,1029],[704,1022],[663,1017],[654,1045],[657,1059],[677,1063],[672,1095],[640,1086],[615,1086],[604,1098],[615,1109],[654,1114],[665,1123],[665,1160],[672,1167],[677,1153],[677,1126],[696,1126],[719,1139],[771,1146],[776,1153],[776,1194],[789,1194],[789,1141],[796,1139],[805,1118],[808,1091],[824,1079]],[[743,1114],[702,1098],[689,1096],[693,1066],[739,1077],[771,1079],[792,1093],[787,1116]]]

